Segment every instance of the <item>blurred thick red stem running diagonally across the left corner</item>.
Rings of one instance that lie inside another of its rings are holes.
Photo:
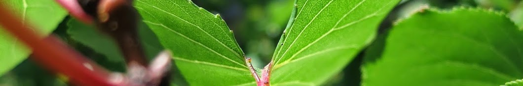
[[[107,71],[85,59],[63,43],[49,36],[41,39],[36,32],[30,30],[10,10],[0,4],[0,24],[33,51],[33,60],[55,72],[63,73],[70,79],[82,85],[121,85],[120,82],[110,82]]]

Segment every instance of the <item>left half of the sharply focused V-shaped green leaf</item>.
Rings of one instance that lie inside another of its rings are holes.
[[[244,54],[219,15],[187,0],[137,0],[143,21],[172,51],[190,85],[238,85],[254,82]]]

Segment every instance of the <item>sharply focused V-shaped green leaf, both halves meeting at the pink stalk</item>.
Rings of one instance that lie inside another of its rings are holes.
[[[322,84],[373,39],[381,19],[398,2],[297,1],[298,13],[274,56],[271,84]],[[219,15],[184,0],[139,0],[135,7],[173,51],[191,85],[255,85],[244,54]]]

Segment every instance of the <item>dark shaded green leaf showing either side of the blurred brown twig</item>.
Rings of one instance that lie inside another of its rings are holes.
[[[94,51],[105,55],[112,62],[123,62],[118,45],[107,34],[97,31],[94,26],[88,26],[74,19],[69,20],[67,26],[69,27],[67,33],[73,40],[93,48]],[[163,50],[158,38],[145,23],[139,24],[138,33],[148,58],[155,57]]]

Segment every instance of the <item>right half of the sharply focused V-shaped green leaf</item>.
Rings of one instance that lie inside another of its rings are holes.
[[[321,85],[377,33],[393,1],[299,0],[272,56],[271,84]]]

